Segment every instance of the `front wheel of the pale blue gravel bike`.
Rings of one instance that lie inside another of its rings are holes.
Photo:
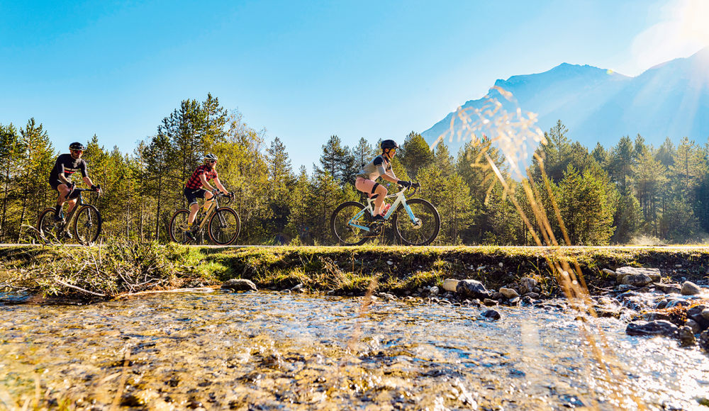
[[[441,229],[441,218],[438,210],[428,201],[420,198],[406,200],[411,212],[416,218],[411,221],[403,207],[396,210],[396,235],[406,245],[428,245],[438,236]]]

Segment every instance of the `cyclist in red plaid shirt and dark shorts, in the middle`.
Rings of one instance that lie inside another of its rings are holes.
[[[199,211],[197,198],[205,199],[204,210],[206,211],[210,205],[209,200],[219,191],[225,195],[233,196],[233,194],[228,193],[226,188],[220,183],[216,168],[217,156],[214,154],[206,154],[204,156],[204,164],[194,170],[194,173],[192,173],[192,176],[184,186],[184,196],[187,198],[187,201],[189,201],[189,218],[187,219],[186,235],[193,241],[194,236],[192,235],[191,229],[194,224],[194,218],[197,216],[197,211]],[[209,184],[209,181],[213,181],[214,185],[218,188],[213,188]]]

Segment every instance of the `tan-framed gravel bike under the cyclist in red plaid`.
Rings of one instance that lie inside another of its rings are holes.
[[[229,245],[239,237],[241,220],[236,211],[228,207],[219,207],[219,197],[229,198],[227,204],[233,201],[233,195],[218,193],[210,200],[206,211],[199,210],[192,225],[192,234],[197,239],[203,237],[204,227],[207,227],[209,238],[219,245]],[[187,236],[187,218],[189,210],[177,210],[170,219],[170,239],[179,244],[187,244],[192,240]]]

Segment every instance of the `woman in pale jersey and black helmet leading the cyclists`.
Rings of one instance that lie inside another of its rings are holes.
[[[386,187],[375,181],[377,178],[381,177],[386,181],[391,181],[400,186],[411,187],[411,181],[397,179],[393,169],[391,169],[391,159],[394,158],[398,147],[399,145],[396,144],[394,140],[382,141],[381,154],[374,157],[369,164],[359,170],[357,181],[354,182],[354,187],[362,191],[362,193],[366,193],[367,196],[372,197],[378,195],[374,199],[374,221],[384,220],[384,216],[380,215],[380,212],[386,213],[386,210],[381,210],[381,205],[384,203],[384,198],[388,192]]]

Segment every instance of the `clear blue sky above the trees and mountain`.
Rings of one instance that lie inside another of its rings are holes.
[[[0,0],[0,123],[131,152],[211,92],[309,169],[330,135],[403,141],[496,79],[687,57],[705,21],[703,0]]]

